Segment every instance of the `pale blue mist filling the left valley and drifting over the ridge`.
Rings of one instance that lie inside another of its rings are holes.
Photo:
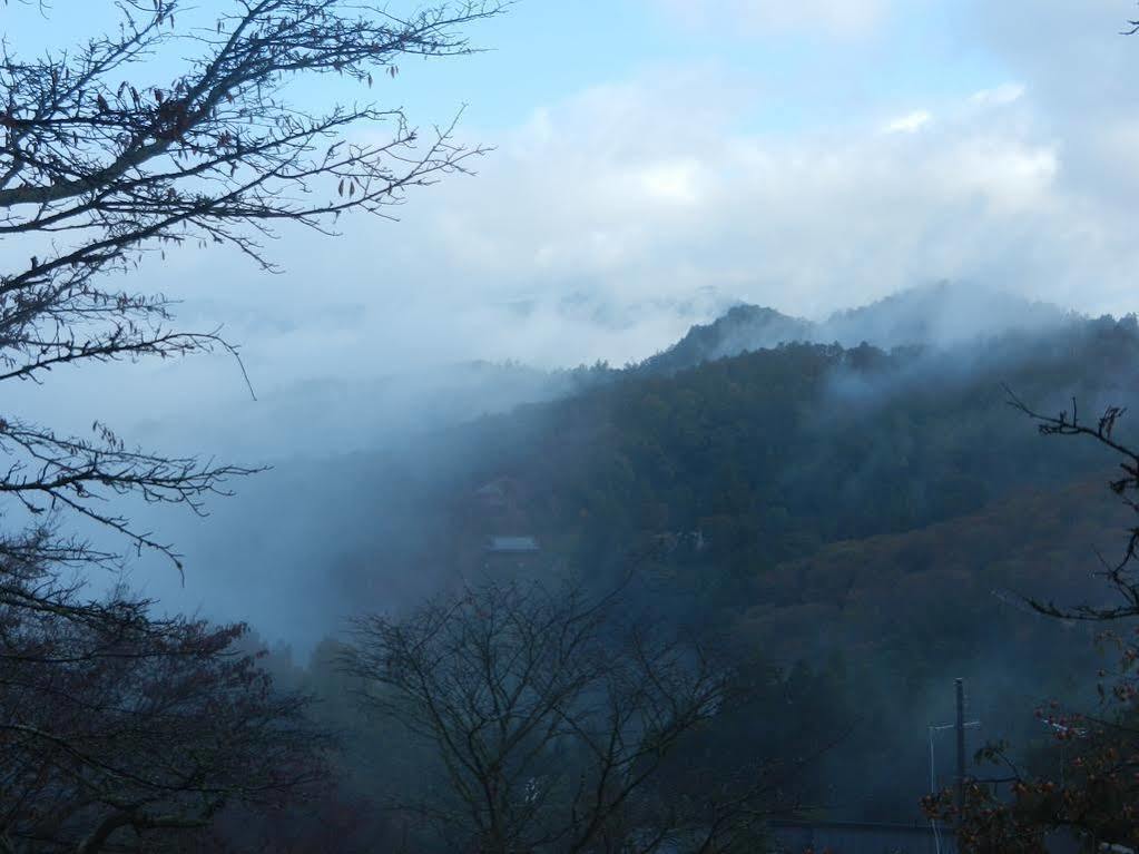
[[[1083,322],[1056,306],[947,282],[819,323],[794,321],[786,337],[772,337],[769,323],[759,330],[739,325],[738,317],[731,312],[702,332],[714,332],[703,359],[786,340],[870,344],[909,354],[884,372],[834,371],[829,396],[818,402],[820,436],[831,435],[823,425],[839,413],[872,419],[890,400],[904,402],[934,388],[952,396],[978,384],[997,391],[1022,366],[1050,358],[1058,330]],[[970,331],[970,323],[977,329]],[[424,565],[421,556],[428,543],[453,536],[452,506],[477,485],[472,478],[482,470],[484,440],[467,425],[656,370],[653,359],[624,371],[474,362],[269,388],[257,388],[254,373],[254,400],[231,360],[214,362],[227,387],[221,401],[203,410],[199,399],[174,395],[163,403],[164,414],[124,434],[150,446],[208,449],[216,459],[268,469],[231,482],[236,494],[211,500],[203,518],[179,508],[133,510],[146,529],[175,544],[186,567],[179,573],[144,553],[129,577],[166,608],[248,621],[302,658],[352,615],[407,607],[453,576],[453,567]],[[1065,389],[1050,394],[1048,407],[1063,405]],[[1105,402],[1113,401],[1097,396],[1085,404]],[[865,457],[868,468],[893,466],[896,449],[884,443],[879,450]],[[859,491],[855,483],[844,488]]]

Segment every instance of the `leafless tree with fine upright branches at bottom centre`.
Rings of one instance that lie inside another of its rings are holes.
[[[368,708],[437,756],[444,783],[415,796],[408,781],[393,806],[449,851],[732,851],[778,799],[762,767],[663,785],[728,674],[695,643],[625,624],[615,597],[489,583],[359,621],[344,666]]]

